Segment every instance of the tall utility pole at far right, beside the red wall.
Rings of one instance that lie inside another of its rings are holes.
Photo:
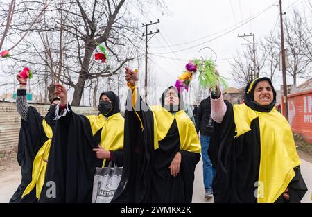
[[[283,13],[281,0],[279,0],[279,16],[281,18],[281,72],[283,74],[283,95],[284,95],[284,116],[288,121],[288,100],[287,100],[287,82],[286,82],[286,63],[285,63],[285,46],[284,46],[284,28]]]

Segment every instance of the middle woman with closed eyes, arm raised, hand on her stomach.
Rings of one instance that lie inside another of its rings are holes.
[[[175,87],[162,94],[162,106],[139,96],[137,75],[126,68],[130,87],[125,111],[124,164],[112,202],[191,202],[200,142],[189,116],[181,110]]]

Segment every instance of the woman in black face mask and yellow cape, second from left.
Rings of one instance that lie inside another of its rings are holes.
[[[124,119],[119,97],[114,92],[103,92],[98,116],[78,115],[67,103],[65,87],[55,86],[61,103],[55,111],[58,121],[40,202],[89,203],[96,167],[107,166],[109,160],[116,166],[123,164]],[[108,148],[103,148],[103,144],[108,144]],[[53,186],[55,189],[51,189]]]

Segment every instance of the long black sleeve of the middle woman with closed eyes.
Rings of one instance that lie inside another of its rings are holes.
[[[134,111],[131,98],[130,90],[125,109],[123,175],[112,202],[149,201],[154,153],[153,112],[139,94]],[[135,113],[139,114],[144,130]]]

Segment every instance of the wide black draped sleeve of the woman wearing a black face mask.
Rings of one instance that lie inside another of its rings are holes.
[[[69,112],[55,122],[45,182],[57,186],[56,197],[46,194],[51,182],[44,183],[39,202],[92,202],[94,173],[103,164],[92,150],[93,142],[85,116]]]

